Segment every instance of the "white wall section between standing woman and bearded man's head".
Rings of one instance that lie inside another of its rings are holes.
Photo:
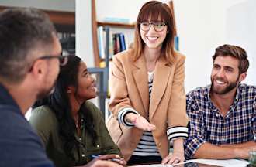
[[[210,83],[211,56],[224,40],[224,5],[222,0],[177,0],[174,5],[188,92]]]

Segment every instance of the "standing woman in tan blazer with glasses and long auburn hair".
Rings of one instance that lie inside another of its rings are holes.
[[[107,127],[128,164],[185,159],[185,56],[174,51],[173,19],[168,5],[145,3],[133,46],[113,56]]]

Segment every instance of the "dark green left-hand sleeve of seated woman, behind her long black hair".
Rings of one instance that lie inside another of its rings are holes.
[[[48,107],[36,107],[33,109],[29,123],[36,130],[37,135],[43,141],[43,145],[47,147],[50,141],[50,135],[54,129],[54,113]]]

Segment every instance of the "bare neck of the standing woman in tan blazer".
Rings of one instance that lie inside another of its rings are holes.
[[[148,71],[154,71],[160,53],[160,49],[144,49],[144,56],[146,59]]]

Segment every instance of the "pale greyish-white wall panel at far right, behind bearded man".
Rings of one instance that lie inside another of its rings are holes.
[[[246,83],[256,85],[256,1],[247,0],[227,9],[226,36],[228,43],[246,49],[250,66]]]

